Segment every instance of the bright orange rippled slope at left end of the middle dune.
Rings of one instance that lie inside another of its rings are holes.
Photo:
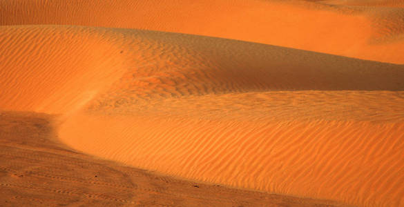
[[[103,36],[72,27],[1,27],[0,108],[61,114],[105,90],[127,61]]]

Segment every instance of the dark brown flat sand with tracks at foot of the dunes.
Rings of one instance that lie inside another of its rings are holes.
[[[59,144],[54,119],[0,111],[1,206],[343,206],[173,179],[83,155]]]

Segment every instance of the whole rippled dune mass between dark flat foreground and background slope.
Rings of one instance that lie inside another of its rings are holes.
[[[76,150],[238,188],[403,205],[404,66],[165,32],[1,32],[23,37],[1,50],[20,54],[2,56],[1,108],[61,113],[59,137]],[[57,61],[66,48],[71,61]]]

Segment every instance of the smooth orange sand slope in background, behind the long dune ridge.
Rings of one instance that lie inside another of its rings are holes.
[[[10,0],[0,2],[0,25],[159,30],[404,63],[403,8],[329,6],[324,2]],[[382,2],[403,5],[401,1]]]

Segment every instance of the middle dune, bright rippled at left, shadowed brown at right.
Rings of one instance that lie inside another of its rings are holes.
[[[117,99],[148,100],[267,90],[404,89],[403,66],[242,41],[67,26],[3,27],[0,37],[5,110],[65,113],[104,90]]]

